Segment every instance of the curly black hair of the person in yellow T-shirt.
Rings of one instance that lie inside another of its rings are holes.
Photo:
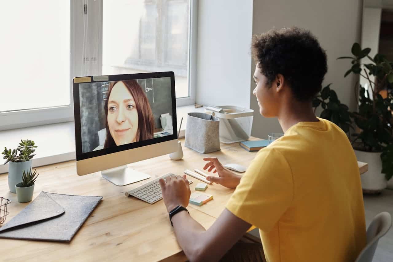
[[[288,27],[254,35],[251,51],[267,84],[281,73],[299,101],[310,101],[321,91],[326,53],[310,31]]]

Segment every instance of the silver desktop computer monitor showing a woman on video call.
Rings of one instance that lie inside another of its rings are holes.
[[[101,171],[118,186],[150,178],[127,164],[177,149],[174,73],[75,77],[79,176]]]

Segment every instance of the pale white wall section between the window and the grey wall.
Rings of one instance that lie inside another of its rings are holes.
[[[252,0],[199,0],[196,103],[250,106]]]

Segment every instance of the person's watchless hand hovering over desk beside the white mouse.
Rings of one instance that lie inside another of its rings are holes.
[[[213,173],[217,173],[219,175],[219,177],[208,176],[206,178],[207,180],[228,188],[236,188],[237,185],[239,185],[241,176],[223,167],[217,158],[204,158],[203,160],[209,161],[209,163],[204,166],[204,170],[209,168],[208,172],[210,172],[215,168]]]

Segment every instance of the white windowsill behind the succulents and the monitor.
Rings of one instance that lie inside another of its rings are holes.
[[[180,138],[185,136],[187,113],[189,112],[204,112],[204,108],[195,108],[194,105],[176,108],[178,129],[183,117]],[[38,146],[37,155],[33,158],[33,167],[73,160],[75,159],[74,132],[73,122],[0,131],[0,149],[1,151],[4,150],[2,149],[4,147],[14,149],[20,139],[31,139]],[[5,161],[5,159],[2,160]],[[8,164],[2,165],[0,163],[0,174],[6,172],[8,172]]]

